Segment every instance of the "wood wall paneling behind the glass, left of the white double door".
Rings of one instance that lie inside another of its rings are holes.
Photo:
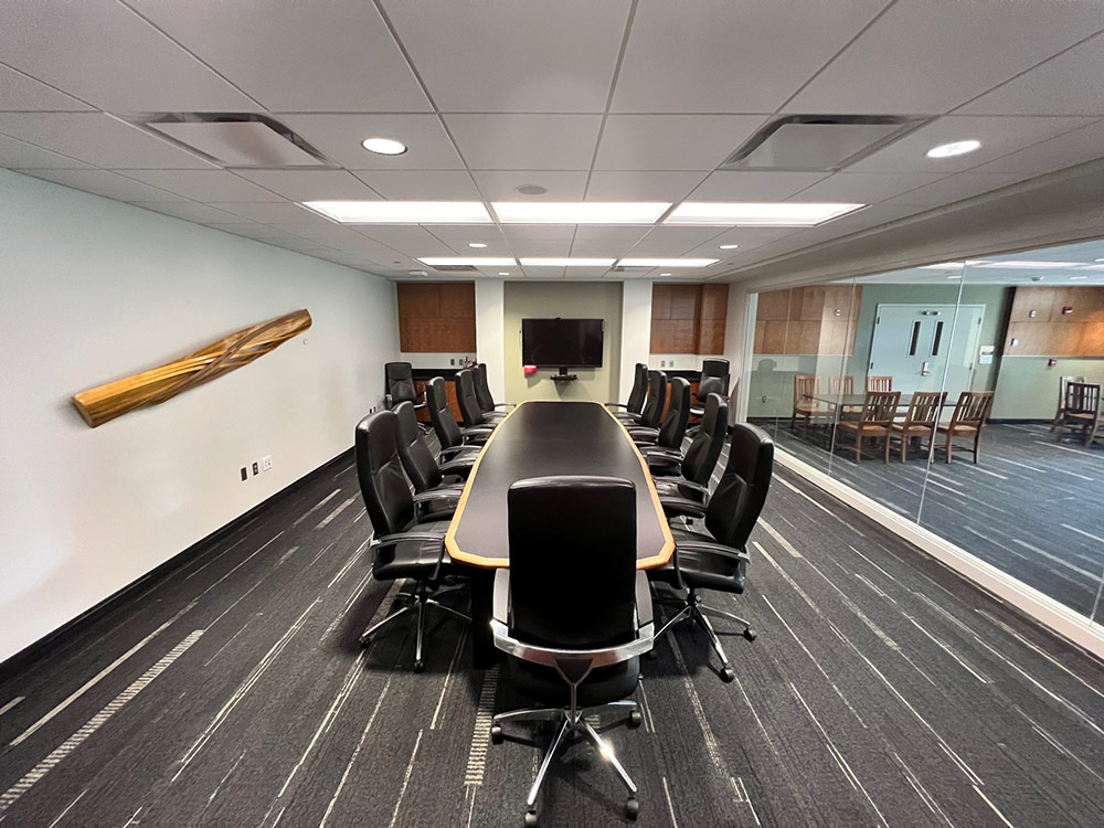
[[[809,285],[758,295],[755,353],[854,352],[862,287]]]

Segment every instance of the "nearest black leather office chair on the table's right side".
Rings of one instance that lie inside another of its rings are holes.
[[[771,437],[753,425],[734,425],[724,474],[721,475],[721,481],[709,499],[709,505],[702,507],[696,516],[705,519],[709,533],[672,526],[675,554],[664,566],[648,571],[652,582],[687,591],[686,597],[679,598],[679,611],[657,636],[678,622],[697,622],[705,630],[721,659],[721,678],[724,681],[732,681],[736,673],[704,613],[714,613],[743,625],[743,635],[749,641],[755,640],[755,633],[740,616],[703,605],[698,591],[718,590],[737,595],[743,593],[749,561],[745,544],[763,511],[773,474],[774,443]]]

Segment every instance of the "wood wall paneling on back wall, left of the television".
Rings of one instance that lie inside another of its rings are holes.
[[[396,287],[401,351],[476,352],[474,282],[400,282]]]

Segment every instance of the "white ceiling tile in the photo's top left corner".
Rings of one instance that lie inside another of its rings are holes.
[[[121,3],[6,3],[0,54],[8,65],[115,113],[258,108]]]

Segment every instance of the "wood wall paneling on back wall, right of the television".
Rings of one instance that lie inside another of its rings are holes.
[[[672,285],[651,288],[651,353],[724,353],[729,286]]]

